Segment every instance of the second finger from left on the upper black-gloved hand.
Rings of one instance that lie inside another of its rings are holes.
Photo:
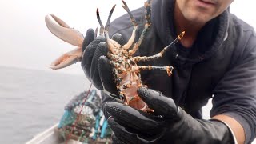
[[[93,85],[99,90],[103,90],[103,86],[102,86],[102,80],[99,77],[99,72],[98,72],[98,59],[102,55],[106,55],[107,50],[108,50],[108,47],[106,42],[100,42],[94,52],[94,57],[92,59],[91,66],[90,66],[90,79],[92,79]]]

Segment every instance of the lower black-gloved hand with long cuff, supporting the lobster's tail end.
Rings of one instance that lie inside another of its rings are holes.
[[[106,104],[114,143],[234,143],[229,128],[217,120],[194,119],[162,93],[141,87],[138,95],[154,114],[117,102]]]

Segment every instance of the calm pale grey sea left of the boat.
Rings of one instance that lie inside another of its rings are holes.
[[[22,144],[57,123],[86,76],[0,66],[0,143]]]

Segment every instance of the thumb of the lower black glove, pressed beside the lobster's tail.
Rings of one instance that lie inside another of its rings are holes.
[[[146,87],[138,88],[137,92],[150,109],[154,110],[155,115],[162,115],[164,118],[178,117],[178,107],[172,98],[167,98],[161,92]]]

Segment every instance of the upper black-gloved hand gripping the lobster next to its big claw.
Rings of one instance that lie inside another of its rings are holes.
[[[87,30],[82,44],[82,70],[98,90],[104,90],[106,94],[114,98],[119,98],[118,90],[114,84],[110,62],[106,57],[108,51],[106,38],[102,36],[94,37],[94,30]],[[112,39],[120,42],[120,44],[123,42],[121,34],[114,34]]]

